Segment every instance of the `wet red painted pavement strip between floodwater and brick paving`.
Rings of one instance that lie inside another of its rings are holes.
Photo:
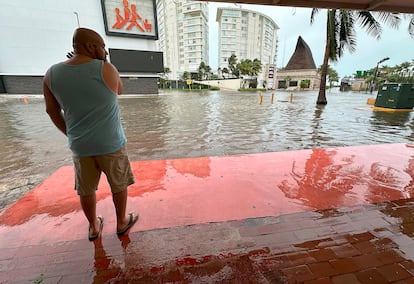
[[[414,148],[406,144],[132,163],[132,231],[337,208],[414,197]],[[62,167],[0,215],[0,248],[85,239],[87,222]],[[97,192],[103,235],[115,234],[105,178]]]

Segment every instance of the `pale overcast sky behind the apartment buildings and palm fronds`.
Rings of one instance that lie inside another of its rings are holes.
[[[263,5],[235,5],[230,3],[209,2],[210,25],[210,67],[214,70],[218,65],[218,23],[216,14],[218,7],[240,7],[246,10],[260,12],[279,26],[277,32],[279,46],[277,52],[277,67],[283,67],[292,56],[299,36],[305,40],[312,50],[316,66],[323,61],[325,48],[325,21],[326,11],[321,10],[316,16],[316,21],[310,24],[311,9],[276,7]],[[357,29],[357,47],[354,53],[348,50],[336,64],[331,66],[342,78],[350,76],[357,70],[369,70],[377,65],[377,62],[385,57],[390,59],[381,65],[395,66],[404,61],[414,60],[414,38],[408,34],[408,20],[401,22],[398,30],[385,25],[380,40],[367,35],[364,30]],[[236,54],[237,55],[237,54]],[[253,58],[252,58],[253,59]]]

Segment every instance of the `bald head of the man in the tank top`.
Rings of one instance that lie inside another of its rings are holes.
[[[73,34],[75,54],[82,54],[94,59],[106,59],[105,42],[94,30],[78,28]]]

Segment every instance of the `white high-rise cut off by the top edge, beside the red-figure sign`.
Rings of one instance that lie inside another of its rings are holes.
[[[208,57],[208,3],[192,0],[157,0],[158,49],[164,66],[176,80],[187,72],[198,72]]]

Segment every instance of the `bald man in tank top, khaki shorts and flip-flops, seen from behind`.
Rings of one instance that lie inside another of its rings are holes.
[[[89,221],[89,240],[100,236],[103,217],[96,214],[101,173],[111,187],[117,234],[125,234],[138,220],[126,214],[127,187],[134,183],[121,124],[117,95],[122,93],[118,70],[106,61],[102,37],[78,28],[73,35],[74,55],[46,72],[43,93],[46,112],[68,137],[73,152],[75,190]]]

